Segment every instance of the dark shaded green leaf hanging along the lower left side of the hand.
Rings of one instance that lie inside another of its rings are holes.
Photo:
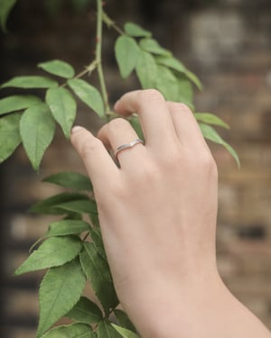
[[[80,262],[98,300],[108,315],[110,309],[117,306],[118,300],[107,260],[99,254],[93,243],[86,242],[84,250],[80,253]]]

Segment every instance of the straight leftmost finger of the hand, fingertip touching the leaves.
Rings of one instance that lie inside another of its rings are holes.
[[[82,127],[73,127],[70,142],[83,160],[94,187],[117,176],[118,169],[103,143]]]

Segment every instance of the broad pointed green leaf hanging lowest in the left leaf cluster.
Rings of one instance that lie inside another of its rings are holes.
[[[55,122],[47,105],[33,105],[22,115],[20,132],[23,148],[33,169],[39,169],[43,154],[52,141],[54,131]]]

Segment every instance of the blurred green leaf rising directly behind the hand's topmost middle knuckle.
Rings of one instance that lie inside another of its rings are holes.
[[[159,76],[156,79],[156,88],[164,95],[167,101],[179,100],[179,85],[173,72],[167,67],[158,65]]]

